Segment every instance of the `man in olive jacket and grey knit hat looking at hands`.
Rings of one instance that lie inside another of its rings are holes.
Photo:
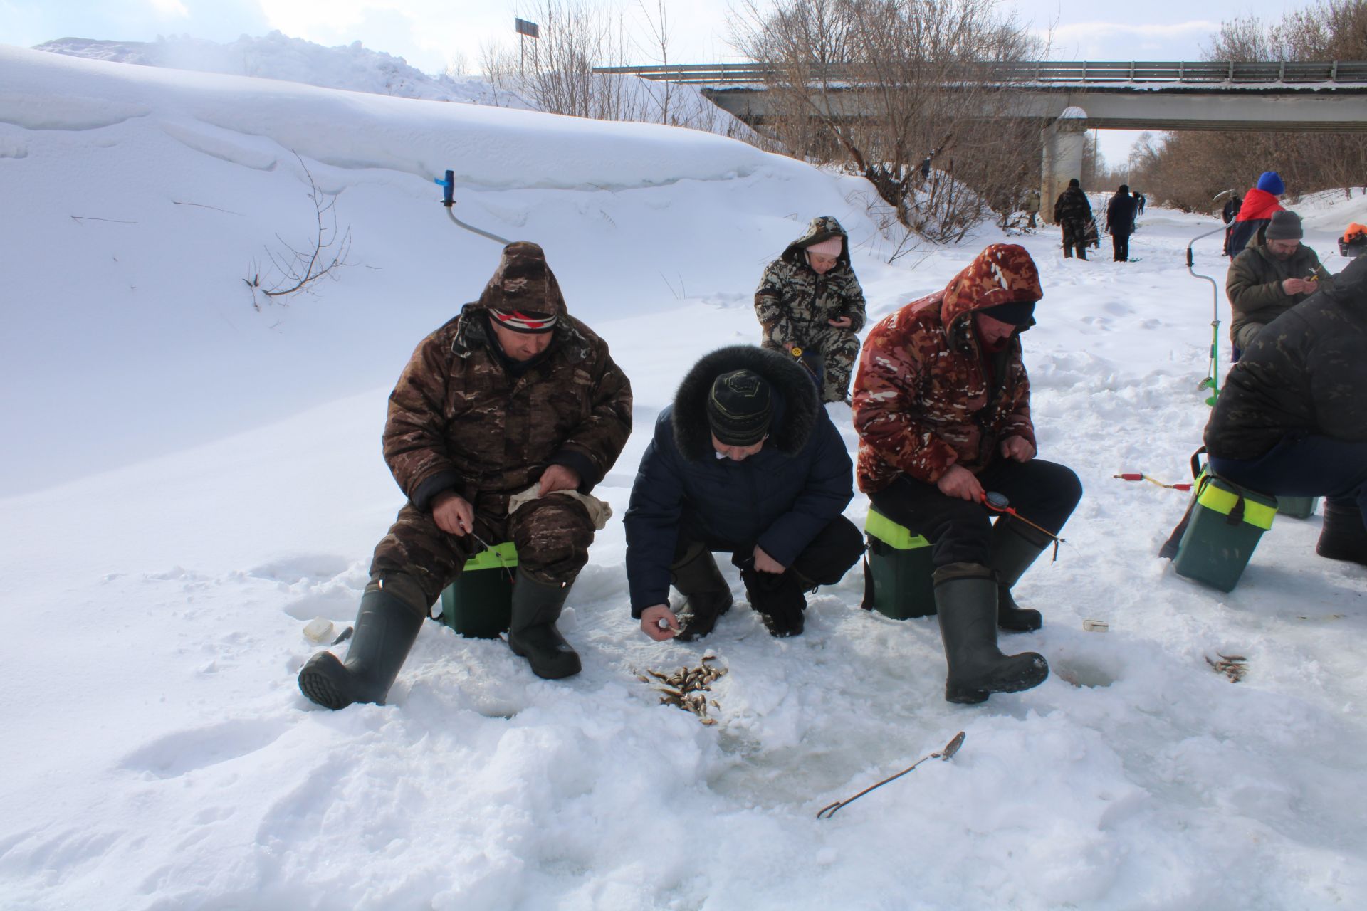
[[[1333,283],[1315,251],[1301,243],[1304,232],[1295,212],[1273,213],[1266,235],[1234,257],[1225,279],[1233,311],[1229,337],[1237,352],[1248,348],[1264,325]]]

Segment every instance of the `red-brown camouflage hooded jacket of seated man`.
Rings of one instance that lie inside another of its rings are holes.
[[[982,471],[1006,437],[1035,445],[1020,335],[984,352],[972,314],[1042,294],[1025,249],[994,243],[943,291],[869,329],[854,378],[860,490],[899,473],[934,483],[954,464]]]

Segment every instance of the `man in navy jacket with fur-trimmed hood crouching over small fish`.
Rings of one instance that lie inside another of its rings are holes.
[[[802,632],[805,591],[864,549],[845,441],[811,377],[782,354],[733,346],[699,361],[660,412],[626,511],[632,616],[662,642],[707,635],[731,606],[712,559],[731,553],[775,636]],[[677,616],[670,583],[686,598]]]

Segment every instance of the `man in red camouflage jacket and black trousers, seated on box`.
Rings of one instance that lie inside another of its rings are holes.
[[[1020,333],[1040,296],[1024,247],[992,244],[943,291],[875,325],[854,380],[858,486],[934,545],[951,702],[1024,690],[1048,673],[1038,654],[997,649],[998,627],[1039,628],[1039,612],[1010,590],[1081,496],[1069,468],[1035,458]],[[994,524],[987,492],[1039,527],[1005,515]]]

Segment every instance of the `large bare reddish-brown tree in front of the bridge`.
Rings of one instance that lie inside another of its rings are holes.
[[[733,40],[772,72],[766,126],[867,178],[908,231],[962,239],[1038,183],[1040,124],[982,64],[1039,48],[995,0],[745,1]]]

